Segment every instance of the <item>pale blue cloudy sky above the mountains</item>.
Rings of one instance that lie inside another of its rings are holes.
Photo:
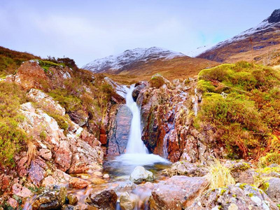
[[[254,27],[279,0],[0,0],[0,45],[78,66],[127,49],[188,54]]]

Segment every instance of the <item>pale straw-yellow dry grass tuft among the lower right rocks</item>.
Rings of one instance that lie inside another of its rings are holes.
[[[215,159],[215,162],[209,166],[209,172],[206,178],[209,181],[209,188],[211,189],[235,184],[235,179],[232,177],[230,169],[224,167],[218,159]]]

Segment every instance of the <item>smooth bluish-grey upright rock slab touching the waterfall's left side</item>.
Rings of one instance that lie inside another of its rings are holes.
[[[112,115],[109,122],[108,155],[120,155],[125,153],[127,141],[130,135],[130,123],[132,113],[125,105],[120,105],[115,117]]]

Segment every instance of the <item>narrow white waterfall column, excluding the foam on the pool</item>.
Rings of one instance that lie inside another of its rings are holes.
[[[141,116],[140,110],[137,103],[134,102],[132,98],[132,92],[134,90],[134,85],[127,88],[126,94],[126,105],[132,112],[132,123],[130,126],[130,137],[128,139],[126,153],[141,153],[148,154],[148,149],[146,148],[144,142],[141,139]]]

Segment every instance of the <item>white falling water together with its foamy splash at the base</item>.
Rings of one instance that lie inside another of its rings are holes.
[[[169,163],[160,155],[149,154],[144,142],[141,139],[141,115],[137,103],[132,98],[134,85],[127,88],[126,105],[132,112],[132,122],[130,126],[130,137],[127,142],[126,152],[116,158],[115,161],[121,162],[122,165],[130,165],[132,169],[135,166],[155,165],[155,163]]]

